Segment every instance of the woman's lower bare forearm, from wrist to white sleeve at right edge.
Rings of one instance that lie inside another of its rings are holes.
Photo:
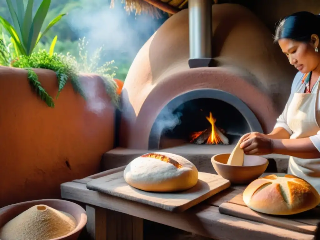
[[[273,153],[306,159],[320,158],[320,152],[310,138],[274,139]]]

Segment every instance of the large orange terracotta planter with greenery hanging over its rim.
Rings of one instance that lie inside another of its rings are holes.
[[[35,72],[55,98],[55,73]],[[100,172],[102,154],[114,147],[115,108],[100,76],[80,81],[87,101],[67,84],[50,108],[30,87],[26,70],[0,66],[0,196],[10,196],[0,198],[0,207],[60,198],[61,183]]]

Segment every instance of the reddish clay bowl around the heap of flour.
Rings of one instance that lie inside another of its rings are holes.
[[[12,220],[20,213],[28,210],[30,207],[35,205],[44,204],[49,207],[52,207],[58,211],[63,211],[69,213],[73,216],[77,221],[76,229],[70,232],[69,234],[57,238],[53,238],[51,240],[76,240],[78,239],[81,230],[87,224],[87,214],[85,210],[79,206],[78,204],[60,200],[60,199],[43,199],[43,200],[35,200],[22,202],[17,204],[8,205],[0,209],[0,228],[2,228],[8,221]]]

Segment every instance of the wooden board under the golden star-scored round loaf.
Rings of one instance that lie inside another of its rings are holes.
[[[238,194],[228,202],[222,203],[219,206],[219,212],[246,220],[252,220],[257,222],[257,224],[265,223],[312,235],[316,233],[317,225],[320,224],[319,207],[295,215],[268,215],[248,208],[242,199],[242,193]]]

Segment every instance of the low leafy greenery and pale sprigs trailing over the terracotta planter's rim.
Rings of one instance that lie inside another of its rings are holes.
[[[80,39],[79,42],[79,58],[71,56],[70,54],[57,54],[53,53],[50,55],[46,50],[39,50],[33,52],[29,56],[22,55],[17,60],[17,57],[13,54],[9,45],[0,38],[0,65],[12,66],[15,68],[28,69],[28,79],[31,87],[37,95],[49,106],[54,108],[54,99],[46,92],[41,83],[38,81],[38,76],[32,70],[32,68],[44,68],[52,70],[56,73],[58,82],[58,94],[56,99],[59,97],[60,92],[67,84],[68,81],[73,86],[75,92],[79,93],[84,99],[86,96],[79,82],[78,74],[81,73],[94,73],[98,74],[103,79],[103,84],[107,94],[111,98],[111,103],[119,108],[119,95],[117,94],[117,84],[113,80],[116,75],[114,66],[111,66],[114,61],[106,62],[100,66],[100,53],[102,47],[98,48],[92,56],[88,56],[86,50],[87,42]]]

